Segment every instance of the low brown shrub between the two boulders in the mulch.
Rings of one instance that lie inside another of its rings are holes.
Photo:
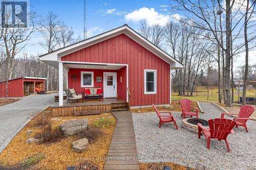
[[[92,128],[89,130],[85,130],[81,133],[79,133],[78,138],[87,138],[89,143],[92,143],[93,141],[95,141],[97,138],[99,138],[101,135],[103,134],[103,132],[99,129],[96,128]]]

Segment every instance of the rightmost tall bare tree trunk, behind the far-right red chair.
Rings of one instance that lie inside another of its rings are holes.
[[[249,47],[248,47],[248,37],[247,37],[247,24],[248,24],[248,8],[249,8],[249,0],[247,0],[246,5],[246,13],[244,18],[244,43],[245,43],[245,70],[244,70],[244,88],[243,88],[243,97],[242,97],[242,104],[246,104],[246,87],[247,87],[247,78],[248,78],[248,53],[249,53]]]

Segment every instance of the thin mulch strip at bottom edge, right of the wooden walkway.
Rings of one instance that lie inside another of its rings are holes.
[[[170,166],[173,170],[193,170],[193,168],[169,162],[140,163],[140,170],[163,170],[164,165]]]

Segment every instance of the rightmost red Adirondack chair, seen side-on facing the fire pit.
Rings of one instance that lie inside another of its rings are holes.
[[[245,128],[246,132],[248,132],[247,126],[246,126],[246,122],[247,120],[249,120],[250,115],[254,112],[254,107],[250,106],[250,105],[245,105],[245,106],[241,106],[239,114],[235,114],[235,113],[222,113],[221,114],[221,118],[224,118],[225,114],[231,114],[231,115],[238,115],[238,117],[234,118],[233,120],[236,121],[237,125],[236,127],[238,128],[238,126],[242,126]]]

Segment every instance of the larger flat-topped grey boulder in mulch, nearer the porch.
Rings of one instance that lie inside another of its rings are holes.
[[[60,125],[60,129],[65,136],[72,136],[81,131],[88,130],[88,119],[70,119]]]

